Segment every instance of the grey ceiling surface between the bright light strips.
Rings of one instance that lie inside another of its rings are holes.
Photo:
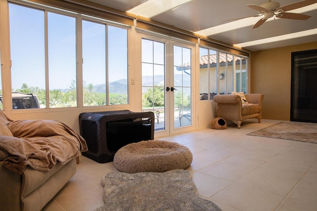
[[[95,3],[103,4],[115,9],[127,11],[134,6],[145,2],[146,0],[89,0]],[[276,0],[281,6],[297,2],[299,0]],[[197,32],[207,28],[222,25],[228,22],[224,20],[247,17],[259,14],[256,10],[246,6],[246,4],[261,5],[266,0],[192,0],[183,5],[165,11],[151,19],[164,24],[172,25],[190,32]],[[315,5],[315,4],[314,4]],[[317,3],[316,7],[317,8]],[[228,31],[208,35],[211,39],[229,44],[238,44],[243,42],[256,41],[276,36],[282,36],[301,31],[313,30],[314,34],[300,38],[287,39],[278,42],[268,42],[264,44],[245,46],[245,49],[251,51],[282,47],[293,44],[317,41],[317,9],[305,12],[303,14],[311,15],[308,20],[289,20],[276,19],[266,21],[257,29],[252,29],[253,25],[233,29],[233,26],[227,27]],[[254,18],[254,23],[259,20]],[[314,30],[316,29],[316,30]]]

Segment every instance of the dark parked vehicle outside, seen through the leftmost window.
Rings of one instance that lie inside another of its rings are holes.
[[[2,94],[0,95],[0,101],[2,102]],[[28,109],[28,108],[40,108],[40,103],[35,94],[12,92],[12,109]]]

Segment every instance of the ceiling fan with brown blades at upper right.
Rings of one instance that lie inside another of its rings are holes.
[[[271,0],[267,0],[266,3],[261,4],[260,6],[256,5],[256,4],[247,4],[246,6],[257,10],[258,12],[260,12],[260,14],[254,15],[254,16],[243,17],[243,18],[260,17],[262,15],[264,16],[252,27],[252,29],[258,28],[259,26],[264,24],[264,22],[268,18],[271,18],[273,16],[278,17],[278,18],[293,19],[293,20],[307,20],[311,16],[300,14],[300,13],[286,12],[286,11],[298,9],[298,8],[308,6],[308,5],[311,5],[314,3],[317,3],[317,0],[302,0],[302,1],[297,1],[295,3],[291,3],[291,4],[288,4],[285,6],[281,6],[281,4],[279,2],[271,1]],[[230,20],[226,20],[226,21],[240,20],[243,18],[230,19]]]

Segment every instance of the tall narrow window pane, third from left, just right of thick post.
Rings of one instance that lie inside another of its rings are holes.
[[[106,105],[106,25],[82,22],[84,106]]]

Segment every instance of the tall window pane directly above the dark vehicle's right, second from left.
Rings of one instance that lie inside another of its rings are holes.
[[[76,107],[76,19],[49,12],[48,41],[50,107]]]

